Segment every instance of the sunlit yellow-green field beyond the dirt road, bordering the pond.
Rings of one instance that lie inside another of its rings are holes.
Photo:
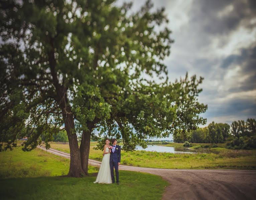
[[[90,145],[89,158],[101,161],[103,157],[102,151],[94,150],[94,146],[96,146],[96,142],[92,142]],[[222,144],[220,146],[222,146]],[[176,145],[176,147],[181,146]],[[51,148],[69,153],[69,145],[51,143]],[[173,154],[149,151],[122,151],[121,164],[137,167],[152,167],[165,169],[256,170],[255,150],[230,150],[222,147],[212,148],[211,150],[212,153],[197,154]]]

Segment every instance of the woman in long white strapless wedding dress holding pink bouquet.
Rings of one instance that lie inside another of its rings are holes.
[[[110,165],[109,165],[109,158],[111,149],[109,149],[110,140],[107,138],[105,140],[104,146],[104,156],[101,162],[101,167],[97,176],[97,179],[94,183],[112,183],[111,174],[110,174]]]

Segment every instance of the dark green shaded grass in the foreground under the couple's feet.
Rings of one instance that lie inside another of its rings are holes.
[[[94,184],[97,173],[84,178],[67,176],[0,179],[1,199],[103,199],[118,192],[119,199],[161,199],[168,182],[159,176],[119,171],[120,185]],[[150,191],[150,192],[149,192]]]

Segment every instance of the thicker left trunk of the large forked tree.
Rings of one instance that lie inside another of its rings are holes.
[[[63,119],[65,122],[65,129],[69,138],[69,147],[70,147],[70,168],[68,176],[71,177],[81,177],[85,175],[85,172],[82,169],[80,151],[78,147],[77,134],[75,132],[75,123],[74,118],[71,113],[65,113],[62,111]]]

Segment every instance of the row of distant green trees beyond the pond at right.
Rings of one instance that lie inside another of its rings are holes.
[[[246,143],[253,147],[256,137],[255,119],[233,121],[231,126],[227,123],[210,123],[207,127],[196,130],[181,131],[173,135],[173,141],[183,143],[225,143],[230,148],[243,148]],[[247,141],[247,142],[246,142]],[[246,147],[244,147],[246,148]],[[253,147],[254,148],[254,147]]]

